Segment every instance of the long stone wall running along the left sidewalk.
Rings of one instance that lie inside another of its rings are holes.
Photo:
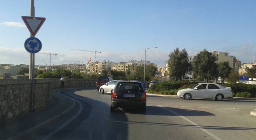
[[[66,79],[66,87],[93,87],[96,80]],[[35,79],[34,109],[47,107],[51,91],[60,87],[60,79]],[[0,79],[0,124],[31,111],[31,80]]]

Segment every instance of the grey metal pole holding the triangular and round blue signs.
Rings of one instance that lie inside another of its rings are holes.
[[[35,1],[30,0],[30,16],[35,16]],[[32,34],[30,37],[34,37]],[[30,69],[29,69],[29,78],[32,80],[31,82],[31,112],[34,111],[34,94],[35,94],[35,54],[30,54]]]

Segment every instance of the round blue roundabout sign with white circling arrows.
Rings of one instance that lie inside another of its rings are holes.
[[[29,53],[38,53],[42,49],[41,41],[36,37],[29,37],[24,43],[24,47]]]

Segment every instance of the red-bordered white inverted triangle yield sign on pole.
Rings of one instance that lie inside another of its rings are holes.
[[[36,35],[36,33],[43,25],[43,22],[45,22],[46,20],[46,18],[32,16],[21,16],[21,18],[24,21],[25,25],[27,26],[29,32],[32,34],[32,36]]]

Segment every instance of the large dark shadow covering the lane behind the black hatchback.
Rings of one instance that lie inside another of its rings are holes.
[[[69,125],[55,134],[53,140],[127,140],[128,124],[117,124],[115,121],[128,121],[125,114],[110,113],[110,106],[98,100],[74,94],[78,90],[68,90],[62,94],[75,98],[82,106],[82,113]],[[77,109],[78,110],[78,109]]]

